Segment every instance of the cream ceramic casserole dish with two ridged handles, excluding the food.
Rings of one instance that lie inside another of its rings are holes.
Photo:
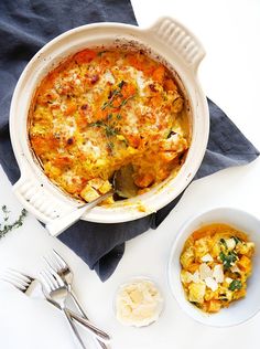
[[[61,61],[85,47],[126,44],[138,45],[152,56],[160,56],[183,86],[191,109],[191,148],[175,178],[169,178],[148,193],[131,200],[119,201],[111,207],[96,207],[83,219],[116,223],[155,212],[187,187],[202,162],[208,140],[209,114],[197,81],[197,68],[205,55],[197,39],[171,18],[162,18],[149,29],[120,23],[75,28],[52,40],[29,62],[17,84],[10,109],[11,141],[21,171],[13,190],[25,209],[44,223],[71,212],[78,202],[55,187],[33,157],[28,137],[28,114],[35,88]]]

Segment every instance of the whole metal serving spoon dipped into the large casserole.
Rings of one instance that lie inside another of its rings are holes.
[[[86,212],[95,208],[98,203],[107,199],[112,194],[118,194],[120,198],[130,199],[138,194],[138,187],[133,182],[133,168],[132,165],[121,167],[113,173],[112,189],[84,205],[74,209],[66,215],[58,216],[45,225],[48,233],[53,236],[57,236],[64,232],[67,228],[77,222],[80,216]]]

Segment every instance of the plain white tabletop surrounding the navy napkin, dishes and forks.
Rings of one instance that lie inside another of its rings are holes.
[[[197,34],[207,51],[199,70],[204,91],[260,149],[260,1],[132,0],[132,4],[142,27],[151,24],[159,15],[167,14]],[[196,324],[180,309],[170,294],[166,263],[181,224],[199,211],[232,205],[260,218],[259,178],[260,159],[194,182],[158,230],[127,243],[123,258],[106,283],[101,283],[72,251],[50,237],[32,215],[21,229],[0,241],[0,272],[14,267],[36,275],[43,267],[41,255],[55,247],[75,271],[75,290],[89,317],[112,335],[113,349],[257,349],[260,314],[239,327],[227,329]],[[21,205],[1,169],[0,204],[11,208],[14,215],[20,213]],[[143,329],[122,327],[112,309],[117,286],[134,275],[154,278],[165,297],[165,309],[160,320]],[[56,309],[0,283],[0,348],[72,349],[75,343]]]

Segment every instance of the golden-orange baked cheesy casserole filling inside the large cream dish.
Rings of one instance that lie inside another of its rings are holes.
[[[29,120],[46,176],[86,201],[109,190],[128,163],[139,193],[149,190],[177,172],[189,147],[176,82],[141,51],[86,49],[68,57],[41,82]]]

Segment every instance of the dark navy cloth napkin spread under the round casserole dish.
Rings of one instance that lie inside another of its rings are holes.
[[[2,0],[0,2],[0,163],[10,181],[19,179],[12,152],[8,116],[11,96],[22,70],[47,41],[72,28],[101,21],[137,24],[129,0]],[[239,129],[212,101],[210,136],[203,163],[195,177],[245,165],[259,155]],[[182,194],[181,194],[182,195]],[[79,221],[58,236],[105,281],[120,261],[124,242],[155,229],[181,195],[156,213],[119,224]]]

